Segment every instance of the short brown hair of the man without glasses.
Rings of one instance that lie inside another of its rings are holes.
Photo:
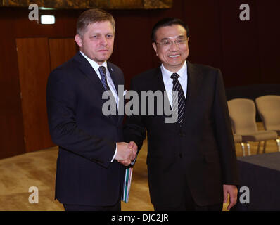
[[[84,32],[87,31],[87,26],[91,23],[98,23],[109,21],[115,32],[115,20],[113,15],[110,13],[103,11],[100,8],[91,8],[87,11],[84,11],[77,20],[77,34],[83,35]]]

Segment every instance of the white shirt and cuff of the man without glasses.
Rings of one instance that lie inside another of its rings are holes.
[[[98,63],[96,63],[94,60],[91,60],[89,57],[84,55],[84,53],[82,53],[82,51],[79,51],[79,52],[82,54],[82,56],[84,56],[84,58],[86,58],[89,61],[90,65],[92,66],[92,68],[94,68],[94,71],[98,75],[100,81],[101,81],[101,75],[100,75],[100,72],[99,72],[98,68],[100,66],[103,66],[103,67],[106,68],[107,83],[108,83],[108,86],[109,86],[110,90],[113,93],[113,96],[115,97],[115,102],[117,103],[117,108],[119,108],[119,96],[117,95],[117,91],[115,89],[115,84],[114,84],[113,79],[112,79],[112,77],[110,75],[110,72],[109,72],[109,70],[107,68],[107,62],[104,61],[102,63],[102,65],[98,65]],[[116,145],[116,147],[115,147],[115,154],[114,154],[113,159],[111,160],[111,162],[113,162],[113,160],[115,159],[115,155],[117,154],[117,143],[115,145]]]

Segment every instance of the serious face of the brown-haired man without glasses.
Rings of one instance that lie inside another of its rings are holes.
[[[115,32],[109,21],[91,23],[82,36],[76,34],[75,41],[87,57],[101,65],[113,53]]]

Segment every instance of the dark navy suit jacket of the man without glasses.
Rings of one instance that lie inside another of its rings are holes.
[[[108,70],[118,89],[122,71],[109,62]],[[51,139],[59,146],[55,198],[61,203],[103,206],[120,198],[125,168],[110,161],[123,141],[123,118],[103,115],[103,91],[79,52],[49,76],[46,103]]]

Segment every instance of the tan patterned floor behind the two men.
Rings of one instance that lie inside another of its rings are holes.
[[[262,124],[258,123],[258,128],[262,130]],[[276,150],[276,142],[267,141],[267,153]],[[61,203],[54,200],[57,153],[55,147],[0,160],[0,211],[63,210]],[[257,143],[251,143],[251,154],[256,153]],[[145,141],[134,166],[129,203],[122,203],[124,211],[153,211],[148,193],[146,154]],[[242,156],[239,144],[236,144],[236,155]],[[30,190],[32,186],[38,188],[39,203],[29,201],[34,195]],[[226,206],[224,204],[224,210]]]

